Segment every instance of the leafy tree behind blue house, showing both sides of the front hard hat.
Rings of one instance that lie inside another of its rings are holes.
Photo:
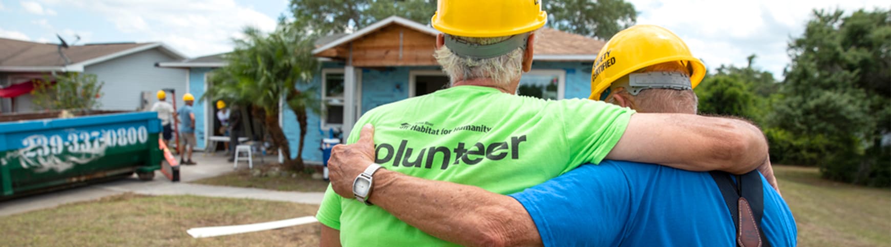
[[[548,26],[589,37],[609,39],[634,25],[634,4],[624,0],[542,1]],[[429,24],[435,0],[291,0],[295,22],[321,35],[362,29],[391,15]]]

